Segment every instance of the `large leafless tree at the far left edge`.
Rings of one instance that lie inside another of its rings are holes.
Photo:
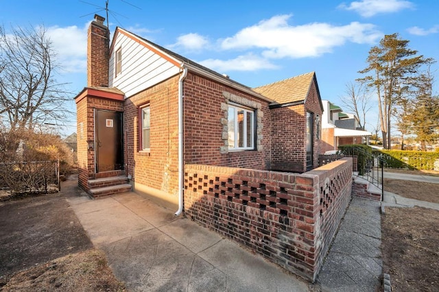
[[[55,57],[44,27],[0,26],[0,116],[10,130],[66,121],[71,94],[54,79]]]

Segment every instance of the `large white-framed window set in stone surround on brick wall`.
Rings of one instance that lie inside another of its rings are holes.
[[[228,149],[254,149],[254,110],[228,104]]]

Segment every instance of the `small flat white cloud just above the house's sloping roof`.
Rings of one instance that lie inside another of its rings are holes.
[[[268,60],[259,56],[248,53],[244,56],[238,56],[230,60],[207,59],[200,62],[203,66],[214,69],[219,72],[228,71],[254,71],[259,69],[277,69],[278,67],[271,64]]]

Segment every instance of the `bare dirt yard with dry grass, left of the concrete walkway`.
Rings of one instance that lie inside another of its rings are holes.
[[[0,291],[123,291],[69,207],[77,195],[73,187],[0,202]]]

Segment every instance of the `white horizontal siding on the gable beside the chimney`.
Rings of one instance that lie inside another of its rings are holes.
[[[123,47],[123,74],[115,74],[116,58],[115,53],[112,53],[108,85],[122,90],[126,98],[167,80],[180,70],[178,66],[124,34],[117,34],[113,47]]]

